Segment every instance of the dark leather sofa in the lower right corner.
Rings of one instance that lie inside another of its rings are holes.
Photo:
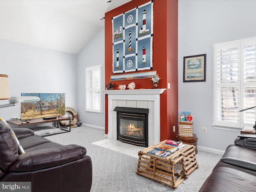
[[[256,147],[256,140],[236,138],[199,192],[256,191],[256,148],[253,146]]]

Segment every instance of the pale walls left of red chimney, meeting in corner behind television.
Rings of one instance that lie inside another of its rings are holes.
[[[85,112],[86,66],[103,65],[104,82],[104,33],[103,27],[78,55],[0,40],[0,74],[9,76],[10,96],[22,92],[65,93],[66,106],[76,109],[80,122],[104,128],[105,114]],[[0,100],[0,104],[7,103]],[[0,117],[20,118],[20,104],[0,108]]]

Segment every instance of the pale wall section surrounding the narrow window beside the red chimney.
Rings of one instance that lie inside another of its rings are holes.
[[[103,114],[93,114],[86,112],[85,105],[85,68],[88,66],[102,65],[102,90],[104,90],[105,79],[105,28],[102,27],[98,33],[84,46],[77,55],[77,106],[78,116],[82,119],[80,122],[105,129],[105,102],[103,98]]]

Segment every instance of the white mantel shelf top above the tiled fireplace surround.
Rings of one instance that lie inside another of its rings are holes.
[[[104,90],[104,94],[134,95],[134,94],[162,94],[166,89],[133,89],[133,90]]]

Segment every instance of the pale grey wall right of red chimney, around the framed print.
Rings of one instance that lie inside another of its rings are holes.
[[[179,112],[190,111],[198,146],[225,150],[239,132],[212,126],[212,45],[256,36],[256,1],[178,1]],[[183,82],[183,57],[206,54],[206,82]],[[202,128],[207,128],[207,134]]]

